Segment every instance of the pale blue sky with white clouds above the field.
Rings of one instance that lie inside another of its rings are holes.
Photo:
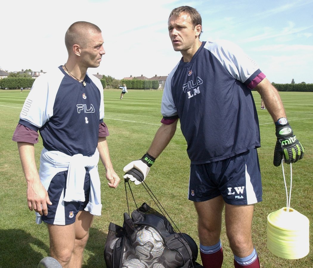
[[[202,41],[236,43],[272,82],[313,83],[312,0],[5,2],[2,70],[49,71],[63,65],[64,34],[70,24],[84,20],[100,27],[106,51],[100,67],[89,73],[116,79],[167,76],[181,58],[172,48],[167,19],[173,8],[189,5],[202,16]]]

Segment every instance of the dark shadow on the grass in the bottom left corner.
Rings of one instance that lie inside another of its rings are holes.
[[[1,268],[37,267],[44,256],[36,248],[49,253],[46,244],[22,229],[0,229]]]

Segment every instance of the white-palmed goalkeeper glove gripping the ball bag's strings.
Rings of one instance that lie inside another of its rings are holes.
[[[124,179],[133,181],[136,185],[141,184],[145,180],[150,171],[150,167],[154,163],[155,158],[149,154],[145,154],[141,159],[130,162],[123,168],[126,172]]]

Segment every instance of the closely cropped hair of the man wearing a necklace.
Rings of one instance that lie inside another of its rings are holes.
[[[73,45],[77,44],[85,48],[89,42],[87,34],[90,32],[101,33],[100,28],[86,21],[77,21],[74,22],[65,33],[65,46],[69,52]]]

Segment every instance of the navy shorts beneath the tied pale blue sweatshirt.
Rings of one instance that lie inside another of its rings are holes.
[[[76,215],[80,210],[84,210],[89,202],[90,176],[86,169],[85,175],[85,202],[64,202],[67,171],[56,174],[49,185],[48,195],[52,205],[48,205],[48,215],[41,218],[45,223],[56,225],[68,225],[75,222]]]

